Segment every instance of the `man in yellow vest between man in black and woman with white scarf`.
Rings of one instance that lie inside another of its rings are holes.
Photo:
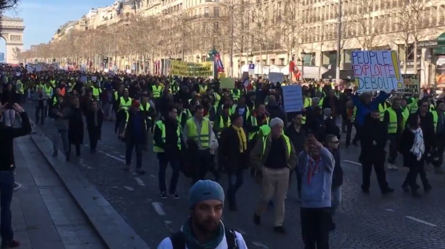
[[[383,123],[388,127],[388,140],[390,141],[387,167],[393,170],[398,169],[394,164],[396,163],[399,151],[401,133],[404,129],[404,119],[400,103],[401,100],[399,98],[393,99],[393,106],[386,109],[383,118]]]

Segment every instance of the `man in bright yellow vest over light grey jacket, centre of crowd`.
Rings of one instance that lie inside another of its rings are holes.
[[[202,105],[195,106],[194,116],[185,122],[182,133],[190,156],[190,164],[194,169],[193,182],[197,182],[204,179],[212,163],[210,156],[212,124],[204,117]]]

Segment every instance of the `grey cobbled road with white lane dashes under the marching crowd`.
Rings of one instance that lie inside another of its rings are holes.
[[[31,117],[34,108],[26,105]],[[52,121],[41,126],[46,135],[53,131]],[[156,155],[143,153],[142,176],[125,172],[125,146],[113,133],[114,123],[105,122],[102,140],[97,154],[89,154],[83,147],[80,158],[73,157],[77,166],[102,195],[122,214],[147,244],[156,248],[171,232],[179,229],[186,220],[187,192],[190,180],[181,175],[178,183],[180,200],[162,200],[158,190],[158,162]],[[85,140],[88,143],[86,133]],[[342,144],[344,147],[344,145]],[[336,213],[337,229],[331,234],[330,244],[334,249],[444,249],[445,248],[445,190],[444,177],[428,172],[433,191],[413,199],[400,188],[407,170],[387,172],[390,186],[396,189],[389,196],[382,196],[373,174],[371,193],[360,191],[361,167],[358,165],[359,148],[341,149],[342,166],[345,171],[343,203]],[[399,159],[401,163],[401,159]],[[168,171],[168,180],[170,178]],[[212,177],[210,174],[208,177]],[[224,222],[237,229],[248,242],[249,248],[287,249],[301,248],[299,203],[296,181],[293,182],[286,200],[286,235],[272,232],[273,212],[263,216],[263,224],[256,227],[253,208],[260,196],[260,188],[247,174],[238,194],[239,210],[224,211]],[[226,178],[221,183],[226,188]],[[292,245],[292,246],[291,246]]]

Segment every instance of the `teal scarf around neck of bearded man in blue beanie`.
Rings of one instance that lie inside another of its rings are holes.
[[[220,227],[218,228],[218,231],[215,232],[215,237],[204,244],[201,244],[195,239],[191,228],[191,218],[189,218],[187,222],[182,226],[182,233],[185,236],[185,244],[188,249],[216,249],[223,241],[224,226],[223,222],[220,222]]]

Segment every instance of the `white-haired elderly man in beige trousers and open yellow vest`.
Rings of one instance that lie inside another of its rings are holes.
[[[297,154],[289,137],[283,134],[283,121],[274,118],[269,125],[271,132],[258,140],[250,154],[251,165],[262,176],[262,195],[255,208],[254,223],[261,224],[261,214],[275,195],[274,231],[284,234],[284,200],[289,186],[289,172],[297,163]]]

